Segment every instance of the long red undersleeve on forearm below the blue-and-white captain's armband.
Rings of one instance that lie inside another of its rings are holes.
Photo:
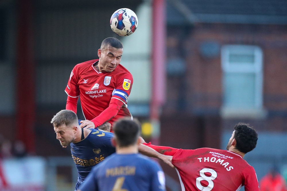
[[[103,123],[109,121],[115,117],[120,109],[123,107],[124,103],[118,99],[111,99],[109,106],[100,113],[97,117],[91,121],[95,124],[95,127],[102,125]]]

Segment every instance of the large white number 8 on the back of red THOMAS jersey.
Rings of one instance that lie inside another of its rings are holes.
[[[206,176],[204,173],[205,172],[209,172],[211,174],[211,176]],[[214,182],[212,180],[216,179],[217,177],[217,173],[215,172],[215,170],[210,169],[210,168],[203,168],[199,171],[199,177],[196,178],[196,187],[199,190],[204,190],[204,191],[210,191],[213,189],[214,187]],[[202,184],[200,183],[200,181],[205,180],[208,182],[207,187],[202,186]]]

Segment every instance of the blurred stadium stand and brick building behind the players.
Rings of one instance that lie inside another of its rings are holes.
[[[131,36],[110,29],[119,8],[138,16]],[[2,0],[0,190],[73,190],[77,172],[50,121],[72,68],[107,37],[123,42],[128,107],[146,140],[225,149],[234,125],[250,123],[259,140],[245,160],[258,180],[274,165],[287,179],[286,0]]]

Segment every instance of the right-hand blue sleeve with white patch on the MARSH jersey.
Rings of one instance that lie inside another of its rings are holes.
[[[152,183],[151,183],[151,190],[152,191],[165,191],[165,177],[162,168],[154,162],[151,168],[152,172]]]

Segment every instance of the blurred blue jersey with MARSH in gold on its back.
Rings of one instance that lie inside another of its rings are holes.
[[[161,167],[148,157],[114,153],[93,168],[80,190],[162,191],[165,178]]]

